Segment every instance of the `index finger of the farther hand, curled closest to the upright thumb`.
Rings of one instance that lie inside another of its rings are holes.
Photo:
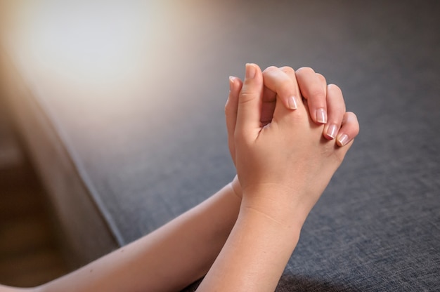
[[[263,78],[264,86],[276,93],[283,100],[283,104],[287,109],[296,110],[298,108],[301,95],[296,84],[296,78],[291,79],[280,68],[274,66],[264,70]]]

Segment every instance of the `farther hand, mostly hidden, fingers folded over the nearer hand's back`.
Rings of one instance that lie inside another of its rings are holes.
[[[295,72],[291,67],[268,67],[262,72],[263,90],[261,95],[261,126],[269,124],[273,119],[277,96],[286,109],[294,111],[302,99],[306,100],[309,115],[316,125],[323,126],[323,136],[332,140],[336,138],[340,147],[347,145],[358,134],[356,116],[345,111],[342,92],[334,84],[327,85],[323,75],[313,69],[304,67]],[[228,129],[228,145],[235,164],[235,124],[238,112],[238,95],[242,89],[242,81],[238,77],[230,77],[230,92],[226,102],[226,127]],[[299,101],[298,101],[299,100]],[[233,189],[241,197],[241,186],[235,177]]]

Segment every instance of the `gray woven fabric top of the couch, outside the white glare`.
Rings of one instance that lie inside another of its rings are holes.
[[[361,133],[277,291],[438,291],[439,2],[164,3],[148,10],[159,33],[134,69],[136,90],[83,82],[76,93],[76,79],[47,82],[60,72],[9,51],[109,237],[127,244],[233,178],[228,75],[245,62],[310,66],[341,86]]]

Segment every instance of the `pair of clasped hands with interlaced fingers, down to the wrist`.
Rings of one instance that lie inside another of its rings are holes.
[[[356,115],[311,68],[247,64],[245,80],[230,85],[226,126],[242,206],[304,223],[358,134]]]

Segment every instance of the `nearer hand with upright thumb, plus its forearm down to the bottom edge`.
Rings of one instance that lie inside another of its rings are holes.
[[[283,74],[275,73],[276,79]],[[339,88],[326,89],[343,102]],[[242,187],[240,214],[198,291],[274,291],[309,211],[352,144],[339,147],[334,137],[324,138],[325,126],[314,123],[306,102],[289,110],[277,101],[271,121],[263,123],[263,102],[263,74],[247,65],[236,108],[230,109],[236,119],[228,127]],[[342,133],[354,138],[356,116],[342,114]]]

